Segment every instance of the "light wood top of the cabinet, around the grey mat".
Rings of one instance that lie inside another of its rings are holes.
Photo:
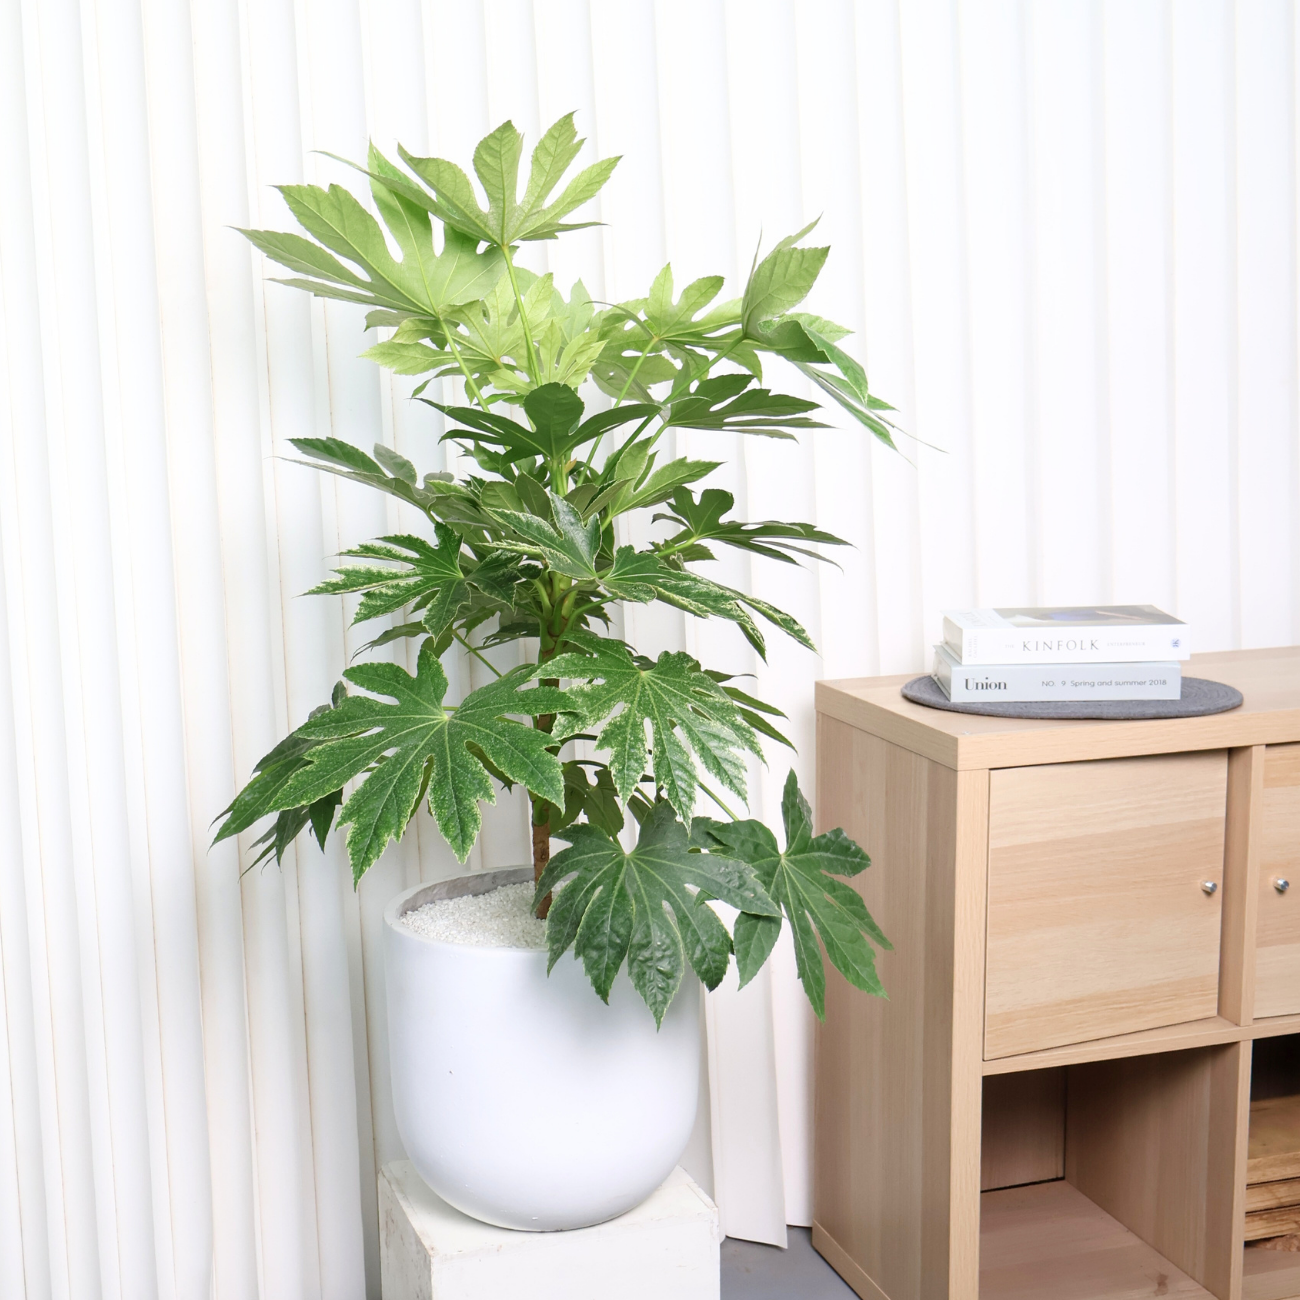
[[[816,710],[957,770],[1300,741],[1300,646],[1195,654],[1183,670],[1236,686],[1245,702],[1208,718],[1145,722],[984,718],[904,699],[898,688],[916,676],[909,672],[819,681]]]

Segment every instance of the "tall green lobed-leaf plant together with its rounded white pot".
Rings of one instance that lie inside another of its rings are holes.
[[[556,1228],[629,1209],[681,1154],[697,1095],[693,976],[716,988],[734,956],[744,984],[788,923],[822,1015],[823,952],[881,993],[872,944],[888,946],[838,879],[867,855],[842,831],[812,833],[793,771],[784,848],[727,803],[745,798],[760,737],[789,744],[780,711],[725,666],[650,659],[610,630],[615,602],[663,601],[736,624],[760,655],[770,629],[811,649],[788,614],[694,566],[722,546],[797,563],[841,545],[810,524],[733,519],[731,494],[702,486],[719,462],[670,458],[663,436],[822,428],[816,403],[762,386],[763,356],[780,356],[893,443],[890,408],[837,346],[848,332],[794,311],[828,252],[802,243],[812,226],[755,256],[731,302],[718,302],[720,276],[675,296],[668,266],[634,302],[594,303],[581,282],[564,298],[517,264],[519,246],[590,225],[567,218],[618,159],[566,183],[582,144],[569,114],[533,151],[520,198],[521,144],[504,122],[474,150],[486,207],[452,162],[399,148],[398,165],[372,147],[358,170],[377,216],[341,186],[287,185],[306,235],[244,231],[294,273],[282,283],[370,308],[367,328],[391,333],[364,355],[424,377],[415,395],[476,468],[454,478],[384,446],[292,439],[311,464],[428,521],[344,552],[358,563],[315,589],[359,593],[356,621],[395,616],[370,647],[413,638],[416,671],[346,668],[261,759],[217,838],[274,815],[257,861],[278,859],[302,831],[324,845],[337,823],[360,880],[421,801],[463,862],[480,803],[526,789],[530,868],[421,887],[387,910],[393,1088],[434,1191],[490,1222]],[[434,381],[451,384],[439,394]],[[460,402],[436,400],[451,387]],[[645,511],[663,526],[637,549],[623,521]],[[528,662],[502,672],[484,650],[510,642]],[[448,703],[448,653],[476,655],[495,680]],[[697,816],[701,796],[723,816]],[[568,845],[554,858],[552,838]],[[536,889],[545,950],[429,940],[402,920],[430,897],[519,880]],[[731,932],[710,901],[736,909]]]

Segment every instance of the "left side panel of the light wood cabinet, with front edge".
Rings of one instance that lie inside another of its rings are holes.
[[[871,854],[853,884],[894,944],[889,998],[832,974],[816,1035],[814,1244],[862,1295],[978,1297],[987,807],[984,774],[819,719],[819,826]]]

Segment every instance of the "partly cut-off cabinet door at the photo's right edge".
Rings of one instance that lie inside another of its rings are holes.
[[[1300,745],[1264,755],[1254,1014],[1300,1011]],[[1278,889],[1284,880],[1287,888]]]

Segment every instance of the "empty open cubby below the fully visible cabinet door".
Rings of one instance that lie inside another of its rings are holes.
[[[1239,1044],[993,1075],[979,1300],[1213,1296],[1239,1248],[1214,1192]]]

